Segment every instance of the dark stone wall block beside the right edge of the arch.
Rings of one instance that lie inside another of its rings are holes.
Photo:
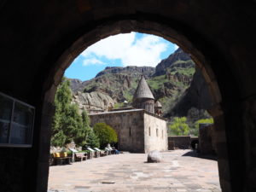
[[[201,154],[216,154],[215,130],[213,124],[199,125],[199,151]]]

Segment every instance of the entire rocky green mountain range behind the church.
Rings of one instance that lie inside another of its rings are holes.
[[[186,116],[192,109],[202,109],[204,113],[208,103],[211,103],[207,100],[207,84],[200,70],[195,70],[194,61],[182,49],[177,49],[172,55],[160,61],[155,68],[106,67],[94,79],[84,82],[71,79],[71,88],[77,96],[75,101],[80,105],[79,108],[82,108],[81,105],[86,106],[84,108],[94,108],[91,103],[104,103],[101,96],[86,95],[91,93],[101,93],[102,96],[109,96],[113,100],[102,107],[102,110],[110,107],[110,103],[114,103],[114,107],[118,108],[123,107],[125,101],[128,105],[131,104],[142,75],[147,80],[154,98],[162,103],[163,114],[167,118],[173,115]],[[84,96],[88,98],[87,104],[81,104],[85,103]]]

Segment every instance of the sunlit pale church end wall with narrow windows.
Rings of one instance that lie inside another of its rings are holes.
[[[166,120],[149,113],[144,113],[145,153],[152,150],[166,151],[167,126]]]

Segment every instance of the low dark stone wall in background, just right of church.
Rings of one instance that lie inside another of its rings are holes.
[[[168,137],[168,150],[176,148],[190,148],[191,140],[189,136],[171,136]]]

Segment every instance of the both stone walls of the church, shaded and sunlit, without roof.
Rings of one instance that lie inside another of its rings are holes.
[[[136,153],[167,150],[166,121],[143,109],[90,114],[90,123],[112,126],[118,134],[119,150]]]

